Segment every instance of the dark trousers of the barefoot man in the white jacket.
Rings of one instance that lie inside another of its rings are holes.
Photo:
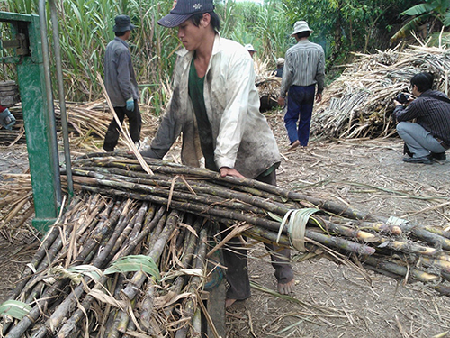
[[[266,177],[256,178],[258,181],[265,182],[276,186],[275,170]],[[226,228],[221,225],[224,230]],[[227,233],[222,234],[222,238]],[[224,264],[227,267],[226,277],[229,282],[229,290],[227,298],[230,299],[246,299],[250,297],[250,281],[248,279],[247,268],[247,250],[242,249],[242,242],[238,237],[232,238],[228,243],[228,247],[223,251]],[[275,277],[279,283],[287,283],[293,279],[293,267],[289,263],[291,259],[291,251],[289,249],[281,250],[278,246],[266,244],[266,250],[273,252],[271,254],[272,266],[275,268]]]

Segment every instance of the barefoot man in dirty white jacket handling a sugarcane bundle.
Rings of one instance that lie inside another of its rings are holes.
[[[206,168],[221,177],[256,178],[275,185],[281,157],[274,134],[259,113],[253,60],[241,44],[220,37],[212,0],[177,0],[157,23],[178,27],[184,49],[177,52],[166,114],[142,155],[162,159],[183,133],[184,164],[199,167],[204,158]],[[226,306],[250,297],[247,251],[238,238],[229,243],[232,251],[223,252],[229,281]],[[272,252],[278,291],[292,292],[290,251],[266,248]]]

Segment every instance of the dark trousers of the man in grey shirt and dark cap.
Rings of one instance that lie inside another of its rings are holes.
[[[140,127],[142,125],[142,119],[140,117],[138,100],[134,100],[134,110],[131,112],[127,110],[124,106],[114,107],[114,111],[119,117],[119,121],[123,123],[125,115],[128,117],[128,122],[130,123],[130,136],[133,142],[139,142],[140,137]],[[103,149],[105,151],[114,151],[117,142],[119,141],[119,126],[117,125],[115,119],[112,119],[108,127],[108,131],[104,136]]]

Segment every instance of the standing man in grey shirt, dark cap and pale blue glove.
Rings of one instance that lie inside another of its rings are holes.
[[[128,15],[117,15],[112,30],[115,38],[106,47],[104,56],[104,85],[110,96],[114,111],[121,123],[125,116],[130,123],[130,136],[139,148],[142,120],[138,105],[138,82],[131,63],[131,54],[127,40],[136,26]],[[103,149],[114,151],[119,141],[119,125],[112,119],[104,137]]]

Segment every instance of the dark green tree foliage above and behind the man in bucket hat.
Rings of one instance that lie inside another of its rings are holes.
[[[448,1],[448,0],[447,0]],[[290,23],[306,20],[328,55],[328,64],[347,59],[348,52],[388,47],[400,14],[418,0],[283,0]]]

